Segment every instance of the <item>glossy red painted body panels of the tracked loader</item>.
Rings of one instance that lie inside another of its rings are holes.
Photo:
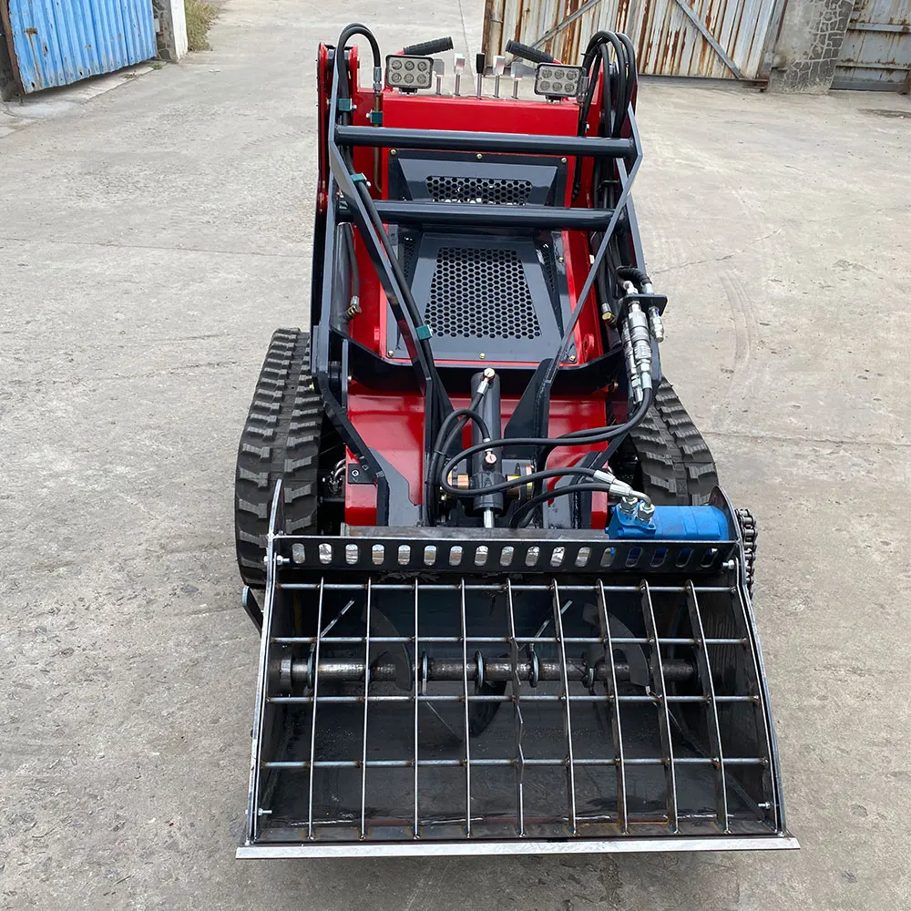
[[[328,114],[333,71],[329,49],[320,46],[319,52],[319,109],[320,109],[320,174],[319,205],[326,203],[329,167],[326,143],[328,137]],[[359,80],[360,66],[357,48],[349,52],[349,69],[352,73],[352,102],[354,107],[353,124],[369,125],[374,113],[374,93],[370,86],[363,86]],[[470,89],[469,85],[466,85]],[[595,90],[591,112],[590,128],[597,126],[598,111],[601,106],[601,85]],[[452,96],[411,96],[385,88],[381,94],[381,107],[384,127],[387,128],[423,128],[452,129],[467,131],[491,131],[499,133],[539,133],[558,136],[576,136],[578,128],[578,104],[575,100],[562,99],[548,101],[504,98],[478,98],[475,95]],[[355,148],[353,161],[355,169],[367,175],[372,183],[372,194],[375,199],[388,199],[384,186],[384,175],[389,170],[390,156],[394,149],[384,148],[377,152],[369,148]],[[496,156],[496,153],[491,153]],[[572,199],[572,187],[575,179],[576,162],[569,159],[568,179],[566,181],[566,199],[561,204],[576,208],[591,206],[591,162],[586,160],[582,167],[580,191]],[[589,240],[584,230],[563,231],[566,256],[568,289],[573,311],[580,305],[578,302],[579,286],[589,271]],[[389,308],[383,288],[371,267],[367,252],[359,238],[355,238],[354,249],[362,275],[361,314],[351,324],[352,338],[358,343],[390,360],[407,363],[405,358],[394,358],[383,349],[382,340],[386,338]],[[604,353],[599,327],[599,312],[594,294],[582,302],[585,308],[579,316],[575,329],[575,350],[572,363],[586,363]],[[446,363],[445,358],[438,363]],[[474,362],[455,362],[474,363]],[[485,354],[478,352],[477,365],[484,366],[518,366],[523,362],[505,362],[489,360]],[[569,363],[569,362],[567,362]],[[537,363],[527,363],[537,366]],[[606,390],[609,391],[609,390]],[[468,404],[467,398],[460,400],[452,395],[455,407]],[[550,435],[561,435],[571,431],[599,427],[604,424],[605,414],[603,394],[580,401],[576,396],[554,395],[551,399],[549,428]],[[512,415],[517,404],[517,396],[504,395],[502,414],[504,422]],[[627,395],[618,391],[613,397],[613,417],[619,422],[626,419],[628,412]],[[424,458],[422,433],[424,427],[424,398],[418,392],[403,393],[400,391],[384,393],[353,383],[348,391],[348,415],[353,425],[362,435],[364,442],[383,453],[386,458],[404,475],[408,481],[409,495],[412,502],[420,504],[423,499]],[[468,431],[466,430],[466,444]],[[555,451],[550,465],[563,467],[575,464],[580,455],[588,451],[587,447],[566,447]],[[348,453],[349,460],[353,455]],[[605,494],[593,495],[592,527],[605,525],[608,512],[608,500]],[[369,485],[349,484],[345,489],[345,521],[349,525],[369,526],[376,522],[376,497],[374,488]]]

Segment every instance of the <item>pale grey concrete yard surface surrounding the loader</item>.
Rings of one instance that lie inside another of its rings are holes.
[[[911,906],[911,110],[649,82],[668,374],[762,529],[790,854],[238,863],[256,639],[234,451],[308,305],[313,59],[480,0],[230,0],[214,50],[0,138],[4,907]],[[904,117],[896,116],[904,112]]]

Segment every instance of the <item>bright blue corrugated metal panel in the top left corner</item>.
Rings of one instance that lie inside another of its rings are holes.
[[[26,92],[66,86],[155,56],[151,0],[8,0],[8,5],[15,65]]]

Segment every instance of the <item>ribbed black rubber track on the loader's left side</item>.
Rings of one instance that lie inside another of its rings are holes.
[[[285,531],[316,527],[317,484],[322,435],[322,399],[314,392],[310,335],[277,329],[247,422],[241,434],[234,476],[234,529],[241,578],[262,588],[272,490],[284,480]]]

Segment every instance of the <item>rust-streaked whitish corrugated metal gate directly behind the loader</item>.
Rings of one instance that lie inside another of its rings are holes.
[[[783,6],[783,0],[486,0],[484,50],[505,53],[512,38],[578,63],[589,36],[609,29],[632,38],[641,73],[762,80]]]

